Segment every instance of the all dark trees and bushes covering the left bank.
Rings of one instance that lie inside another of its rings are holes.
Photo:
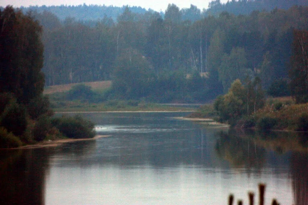
[[[31,14],[7,6],[0,11],[0,148],[44,139],[94,137],[94,124],[81,117],[52,117],[43,96],[42,27]]]

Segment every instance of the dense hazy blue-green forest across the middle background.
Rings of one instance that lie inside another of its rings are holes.
[[[247,77],[258,76],[268,88],[275,79],[288,77],[293,31],[308,27],[308,8],[302,6],[245,16],[223,12],[196,21],[182,16],[174,4],[164,19],[157,12],[136,14],[126,7],[116,22],[104,17],[92,27],[73,18],[61,23],[50,12],[36,14],[44,28],[46,84],[112,79],[124,98],[153,98],[155,93],[162,101],[212,99],[227,92],[235,79]],[[123,69],[146,73],[147,79],[128,83],[125,77],[131,75]],[[203,96],[196,99],[193,93],[198,92]]]

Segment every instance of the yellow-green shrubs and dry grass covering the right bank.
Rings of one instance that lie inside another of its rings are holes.
[[[308,103],[296,104],[291,97],[265,99],[261,92],[257,96],[248,89],[236,80],[227,94],[188,117],[211,118],[236,129],[308,131]]]

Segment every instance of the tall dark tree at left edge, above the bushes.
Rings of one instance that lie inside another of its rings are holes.
[[[0,92],[28,104],[43,92],[42,27],[29,14],[7,6],[0,11]]]

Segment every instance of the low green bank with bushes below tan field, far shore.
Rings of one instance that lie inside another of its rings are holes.
[[[57,87],[57,86],[54,86]],[[96,88],[76,84],[67,92],[50,94],[51,108],[55,112],[102,112],[102,111],[192,111],[193,108],[160,105],[144,100],[117,100],[110,98],[110,88]]]

